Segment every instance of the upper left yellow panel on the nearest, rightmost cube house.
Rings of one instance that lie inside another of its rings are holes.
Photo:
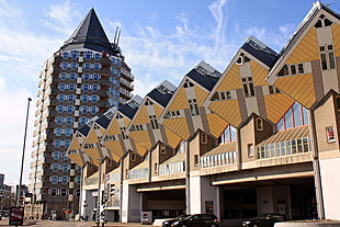
[[[286,64],[298,64],[319,59],[316,30],[311,27],[293,50]]]

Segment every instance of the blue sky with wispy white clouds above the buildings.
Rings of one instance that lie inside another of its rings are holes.
[[[0,0],[0,173],[19,182],[27,98],[31,97],[24,183],[30,156],[38,73],[93,7],[135,75],[144,97],[168,79],[178,86],[205,60],[224,71],[250,35],[280,52],[315,0]],[[338,0],[322,1],[340,12]]]

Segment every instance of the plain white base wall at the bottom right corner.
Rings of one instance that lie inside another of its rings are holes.
[[[324,208],[326,219],[340,220],[340,158],[320,160]]]

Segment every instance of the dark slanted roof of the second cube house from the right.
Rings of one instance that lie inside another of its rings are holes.
[[[254,56],[256,58],[258,58],[259,60],[261,60],[267,66],[269,66],[269,68],[273,67],[277,60],[277,54],[274,55],[275,52],[272,49],[270,49],[271,52],[273,52],[271,54],[261,48],[256,48],[249,43],[245,43],[241,48],[251,54],[252,56]]]

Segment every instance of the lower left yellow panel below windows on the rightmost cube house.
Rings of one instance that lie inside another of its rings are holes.
[[[274,86],[307,109],[316,102],[313,75],[281,77]]]

